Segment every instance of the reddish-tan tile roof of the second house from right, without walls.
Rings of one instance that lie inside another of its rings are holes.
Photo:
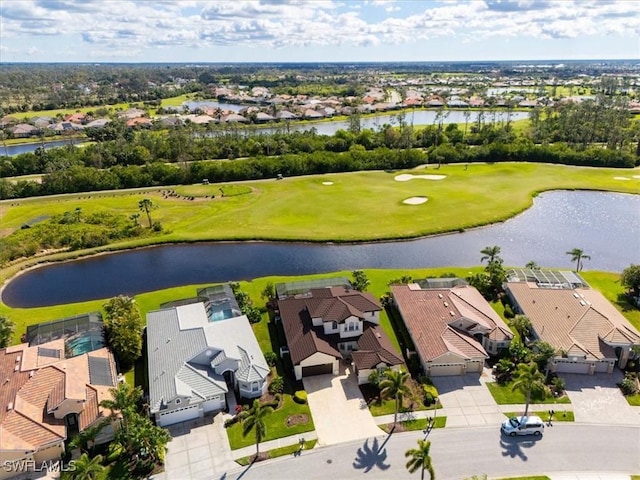
[[[473,287],[420,289],[393,285],[391,292],[423,361],[448,352],[464,358],[488,357],[480,343],[452,327],[458,319],[469,319],[497,337],[512,338],[504,321]]]

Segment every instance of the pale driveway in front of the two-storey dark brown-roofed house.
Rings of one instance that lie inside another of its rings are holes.
[[[386,435],[369,413],[355,375],[341,366],[340,375],[302,379],[319,445],[333,445]]]

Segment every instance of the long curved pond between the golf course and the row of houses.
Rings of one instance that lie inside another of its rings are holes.
[[[485,228],[402,242],[308,244],[226,242],[166,245],[52,264],[12,280],[2,300],[36,307],[178,285],[268,275],[307,275],[361,268],[470,266],[499,245],[505,264],[571,269],[565,252],[581,248],[587,270],[621,271],[640,263],[640,195],[556,191],[529,210]]]

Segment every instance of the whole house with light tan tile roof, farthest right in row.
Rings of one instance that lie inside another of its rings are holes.
[[[509,275],[504,288],[514,311],[526,315],[532,339],[552,345],[556,373],[612,373],[640,346],[640,332],[598,291],[578,281],[549,281],[540,272]],[[544,273],[544,272],[542,272]],[[559,272],[578,278],[574,272]],[[546,275],[549,277],[549,275]]]

